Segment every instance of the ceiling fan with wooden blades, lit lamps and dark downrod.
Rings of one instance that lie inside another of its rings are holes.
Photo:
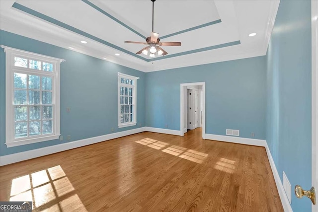
[[[168,54],[164,51],[160,46],[181,46],[181,42],[160,42],[159,34],[154,32],[154,2],[156,0],[151,0],[153,2],[153,31],[150,37],[146,38],[145,42],[135,42],[135,41],[125,41],[125,43],[135,43],[135,44],[144,44],[148,45],[147,47],[143,48],[136,54],[143,53],[144,55],[148,55],[149,57],[155,57],[160,55]]]

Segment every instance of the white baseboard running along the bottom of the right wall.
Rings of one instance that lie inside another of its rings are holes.
[[[272,168],[272,172],[274,175],[274,179],[275,179],[275,183],[276,183],[276,187],[278,190],[278,194],[280,197],[280,201],[282,202],[283,208],[285,212],[293,212],[291,205],[289,204],[287,195],[285,193],[284,187],[283,187],[283,183],[279,177],[278,171],[276,169],[272,154],[270,153],[270,150],[268,148],[267,142],[265,142],[265,149],[266,149],[266,153],[267,153],[267,157],[269,160],[269,164],[270,167]]]

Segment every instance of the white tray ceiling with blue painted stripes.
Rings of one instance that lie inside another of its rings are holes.
[[[278,5],[278,0],[157,0],[154,31],[162,42],[182,45],[163,47],[168,55],[154,61],[136,56],[144,45],[124,43],[150,36],[150,0],[1,0],[0,29],[148,72],[265,55]],[[257,35],[248,37],[251,32]]]

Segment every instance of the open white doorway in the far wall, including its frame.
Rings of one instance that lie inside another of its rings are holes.
[[[202,138],[205,139],[205,82],[181,83],[180,136],[183,136],[188,129],[193,130],[197,127],[202,127]]]

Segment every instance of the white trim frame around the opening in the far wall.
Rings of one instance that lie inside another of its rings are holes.
[[[196,86],[202,85],[203,92],[203,108],[202,108],[202,139],[205,139],[205,82],[191,82],[191,83],[181,83],[180,84],[180,136],[184,135],[183,132],[183,113],[184,113],[184,104],[187,104],[186,99],[184,99],[184,92],[187,91],[185,89],[187,86]]]

